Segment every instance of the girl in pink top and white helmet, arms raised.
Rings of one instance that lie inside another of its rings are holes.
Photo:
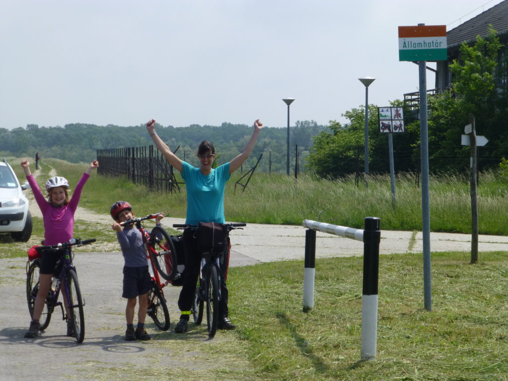
[[[99,167],[99,162],[93,161],[90,163],[90,166],[86,172],[83,173],[83,176],[81,176],[81,179],[76,185],[71,199],[69,199],[69,182],[65,177],[53,176],[46,182],[46,192],[48,195],[45,198],[41,189],[39,189],[39,185],[37,185],[35,181],[34,175],[30,172],[30,163],[24,159],[21,161],[21,167],[23,167],[26,179],[34,193],[37,205],[39,205],[42,212],[44,222],[44,245],[56,245],[57,243],[69,242],[69,240],[73,238],[74,213],[78,207],[81,191],[83,190],[86,180],[90,177],[91,171]],[[48,295],[51,277],[53,276],[56,262],[62,255],[65,255],[65,252],[62,253],[62,250],[45,250],[42,253],[41,268],[39,270],[39,291],[35,299],[33,320],[30,323],[30,328],[25,333],[25,337],[27,338],[34,338],[39,334],[41,327],[39,319],[44,307],[46,295]],[[65,289],[62,288],[61,291],[62,294],[65,293]],[[70,316],[65,295],[63,295],[63,303],[66,304],[67,316]],[[67,336],[74,335],[71,322],[68,321]]]

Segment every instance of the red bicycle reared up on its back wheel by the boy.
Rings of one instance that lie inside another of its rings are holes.
[[[148,293],[148,309],[146,313],[153,319],[153,322],[159,329],[167,331],[170,320],[163,291],[167,282],[163,283],[159,274],[167,281],[171,281],[179,276],[176,271],[176,250],[168,232],[162,226],[156,226],[148,233],[141,223],[146,219],[153,219],[159,214],[161,213],[129,219],[123,221],[120,226],[135,224],[136,228],[141,232],[147,253],[146,257],[151,266],[150,275],[152,278],[152,288]]]

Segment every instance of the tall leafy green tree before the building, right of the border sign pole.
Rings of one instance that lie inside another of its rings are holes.
[[[495,168],[500,158],[508,154],[505,144],[508,103],[495,76],[502,44],[492,26],[488,32],[485,39],[478,36],[472,46],[461,45],[459,60],[450,65],[451,89],[429,98],[431,171],[468,168],[469,148],[460,145],[460,137],[469,113],[475,117],[477,134],[489,138],[489,144],[480,150],[480,167]]]

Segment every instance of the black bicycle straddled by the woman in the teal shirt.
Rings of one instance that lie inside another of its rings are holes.
[[[218,306],[220,301],[220,260],[227,258],[229,251],[229,233],[235,229],[241,229],[246,226],[244,223],[223,224],[227,232],[227,241],[225,248],[221,252],[214,252],[213,249],[201,253],[201,271],[196,287],[194,301],[190,311],[192,312],[194,323],[200,325],[203,321],[204,304],[206,303],[206,323],[208,336],[215,336],[218,323]],[[191,229],[195,234],[199,234],[199,227],[196,225],[174,224],[173,228]]]

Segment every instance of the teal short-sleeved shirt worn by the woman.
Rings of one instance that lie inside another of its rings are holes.
[[[188,225],[198,225],[200,222],[216,222],[224,224],[224,190],[229,180],[229,163],[212,169],[208,176],[201,173],[199,168],[182,162],[182,177],[185,180],[187,192]]]

